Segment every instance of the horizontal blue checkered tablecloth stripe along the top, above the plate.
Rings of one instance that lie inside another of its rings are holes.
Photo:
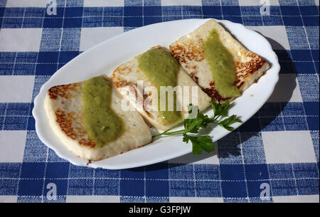
[[[83,6],[57,1],[57,14],[46,8],[0,5],[1,28],[82,28],[124,26],[134,28],[185,18],[218,18],[246,26],[319,26],[319,6],[315,1],[280,1],[262,16],[260,6],[239,6],[238,1],[206,1],[202,6],[161,6],[160,0],[124,1],[124,6]]]

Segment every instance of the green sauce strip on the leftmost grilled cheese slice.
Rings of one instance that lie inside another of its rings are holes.
[[[88,137],[103,147],[122,134],[122,120],[110,108],[112,85],[103,76],[86,80],[82,88],[82,117]]]

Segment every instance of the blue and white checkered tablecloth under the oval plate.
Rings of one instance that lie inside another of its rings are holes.
[[[69,164],[38,139],[34,97],[76,55],[132,28],[209,17],[262,33],[282,67],[272,97],[215,153],[112,171]],[[319,0],[0,0],[0,27],[0,202],[319,202]]]

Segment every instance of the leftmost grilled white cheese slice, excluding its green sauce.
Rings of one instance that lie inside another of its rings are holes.
[[[105,79],[109,80],[107,76]],[[151,142],[151,132],[137,111],[121,109],[122,96],[111,85],[110,108],[122,120],[122,134],[112,142],[97,147],[85,129],[82,112],[82,88],[84,82],[58,85],[50,88],[44,100],[44,107],[50,127],[68,149],[82,159],[100,160],[112,157]],[[139,136],[137,137],[137,134]]]

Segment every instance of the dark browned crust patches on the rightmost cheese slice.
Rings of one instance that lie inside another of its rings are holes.
[[[203,45],[202,41],[198,41],[201,45]],[[198,83],[198,77],[196,76],[197,66],[190,64],[191,61],[200,62],[204,59],[204,49],[200,47],[195,47],[191,43],[186,43],[183,45],[179,45],[175,43],[174,46],[170,46],[171,55],[179,61],[179,63],[183,63],[183,67],[190,68],[191,78]],[[262,68],[262,65],[266,63],[265,59],[256,53],[252,53],[251,51],[247,51],[243,53],[247,58],[251,58],[250,61],[246,63],[240,63],[239,61],[235,62],[235,73],[236,79],[234,85],[240,90],[242,85],[244,85],[247,78],[252,76],[257,70]],[[189,64],[188,64],[189,63]],[[260,78],[260,77],[259,77]],[[257,78],[256,80],[258,80]],[[214,83],[210,83],[210,88],[201,87],[204,92],[207,93],[209,97],[211,97],[216,102],[223,102],[225,100],[230,100],[231,98],[223,98],[221,95],[215,90]]]

